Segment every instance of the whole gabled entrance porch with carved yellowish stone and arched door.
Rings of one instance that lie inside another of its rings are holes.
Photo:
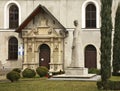
[[[29,21],[22,29],[23,69],[46,66],[50,72],[63,70],[65,28],[45,7],[38,6],[30,16],[22,24]]]

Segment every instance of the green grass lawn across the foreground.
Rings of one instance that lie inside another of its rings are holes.
[[[113,77],[112,79],[119,79]],[[101,91],[96,82],[51,81],[47,78],[20,79],[18,82],[0,82],[0,91]],[[107,90],[110,91],[110,90]],[[111,90],[112,91],[112,90]]]

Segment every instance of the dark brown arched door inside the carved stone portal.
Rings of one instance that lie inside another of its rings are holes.
[[[45,66],[50,68],[50,47],[46,44],[42,44],[39,47],[39,66]]]

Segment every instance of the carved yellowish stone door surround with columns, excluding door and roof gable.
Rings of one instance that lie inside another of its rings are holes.
[[[31,29],[29,31],[30,33],[23,36],[25,54],[23,69],[28,67],[36,69],[36,67],[40,66],[40,46],[47,45],[50,48],[50,62],[48,63],[50,66],[50,71],[63,70],[62,36],[56,36],[56,34],[54,34],[55,30],[51,30],[50,27],[37,27],[36,29]],[[49,31],[51,31],[51,34],[49,34]],[[46,58],[47,56],[44,57]]]

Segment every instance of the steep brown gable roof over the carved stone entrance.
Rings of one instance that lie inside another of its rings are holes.
[[[21,25],[15,30],[15,32],[20,33],[22,29],[24,29],[27,24],[40,12],[46,12],[52,19],[58,22],[66,32],[65,27],[42,5],[38,5],[38,7],[21,23]]]

